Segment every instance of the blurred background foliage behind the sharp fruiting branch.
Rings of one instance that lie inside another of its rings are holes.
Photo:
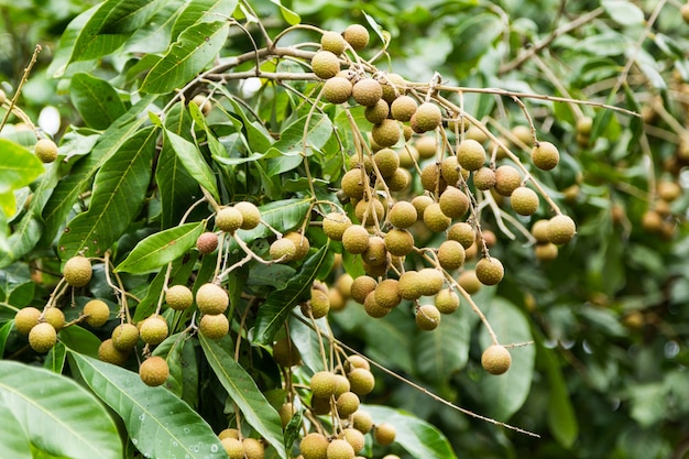
[[[19,105],[32,119],[57,108],[59,129],[78,120],[61,80],[48,72],[67,23],[95,2],[0,1],[0,81],[9,95],[36,43],[39,63]],[[272,34],[285,28],[274,2],[252,2]],[[497,225],[492,251],[508,275],[477,303],[505,342],[532,337],[533,369],[517,368],[493,387],[479,364],[481,327],[467,308],[437,334],[418,332],[398,314],[373,323],[359,309],[335,314],[337,336],[382,365],[457,405],[542,435],[464,416],[382,372],[372,402],[427,419],[459,457],[681,459],[689,451],[689,26],[676,1],[283,1],[303,23],[378,30],[390,39],[380,68],[409,80],[438,73],[449,85],[502,88],[597,105],[521,98],[539,138],[562,162],[538,178],[578,237],[557,260],[510,241]],[[308,32],[289,41],[316,41]],[[286,43],[283,43],[286,44]],[[228,48],[250,48],[231,35]],[[373,52],[373,51],[372,51]],[[110,57],[102,78],[125,78]],[[600,103],[642,113],[634,117]],[[464,108],[496,134],[526,124],[510,97],[468,90]],[[576,123],[593,131],[577,139]],[[1,161],[1,160],[0,160]],[[667,184],[679,185],[670,196]],[[665,187],[665,188],[664,188]],[[517,234],[517,241],[524,241]],[[464,305],[466,306],[466,305]],[[395,312],[397,313],[397,312]],[[516,353],[522,350],[515,351]],[[495,394],[501,394],[495,398]]]

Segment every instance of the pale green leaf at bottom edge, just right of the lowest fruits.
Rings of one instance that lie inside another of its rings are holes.
[[[374,424],[395,427],[395,442],[416,459],[457,459],[448,439],[433,425],[403,411],[381,405],[361,405]]]

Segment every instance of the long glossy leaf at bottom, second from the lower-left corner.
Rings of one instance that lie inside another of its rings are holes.
[[[136,373],[90,357],[70,351],[69,358],[91,391],[120,415],[144,456],[227,458],[206,420],[169,391],[149,387]]]

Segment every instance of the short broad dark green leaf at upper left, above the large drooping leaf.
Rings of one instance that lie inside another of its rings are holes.
[[[69,97],[86,124],[94,129],[107,129],[127,111],[112,86],[89,74],[72,77]]]

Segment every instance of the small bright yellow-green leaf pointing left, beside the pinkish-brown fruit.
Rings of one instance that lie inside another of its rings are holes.
[[[134,274],[155,271],[193,248],[205,227],[206,221],[199,221],[151,234],[140,241],[114,271]]]

